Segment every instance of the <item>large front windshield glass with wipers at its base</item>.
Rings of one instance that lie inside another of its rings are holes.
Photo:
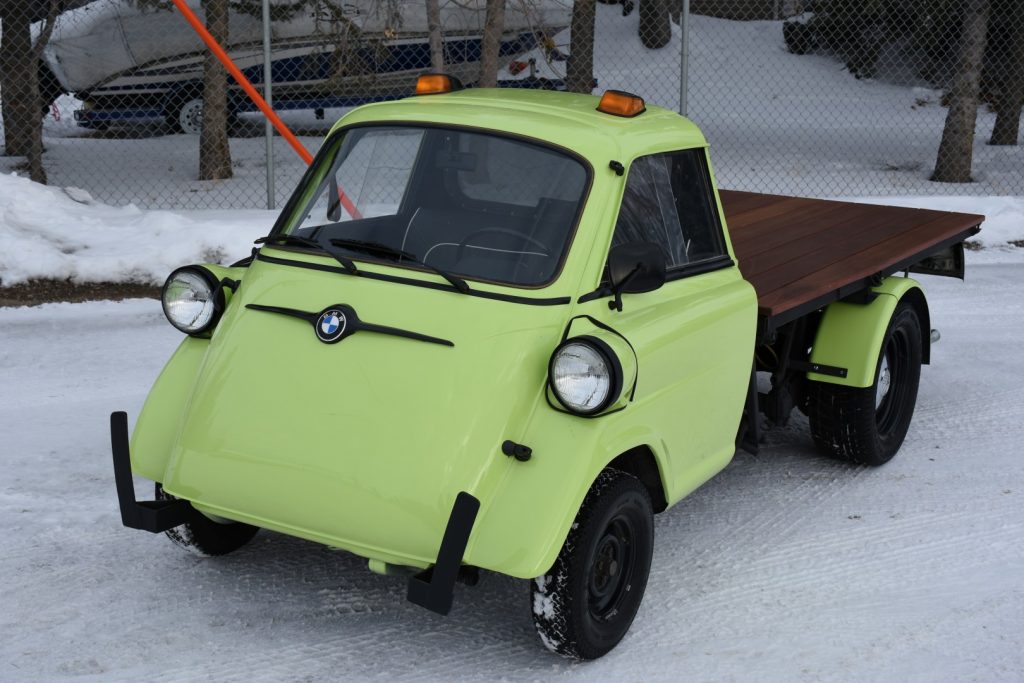
[[[286,233],[519,287],[554,280],[588,186],[584,165],[557,150],[411,126],[333,136],[307,177]]]

